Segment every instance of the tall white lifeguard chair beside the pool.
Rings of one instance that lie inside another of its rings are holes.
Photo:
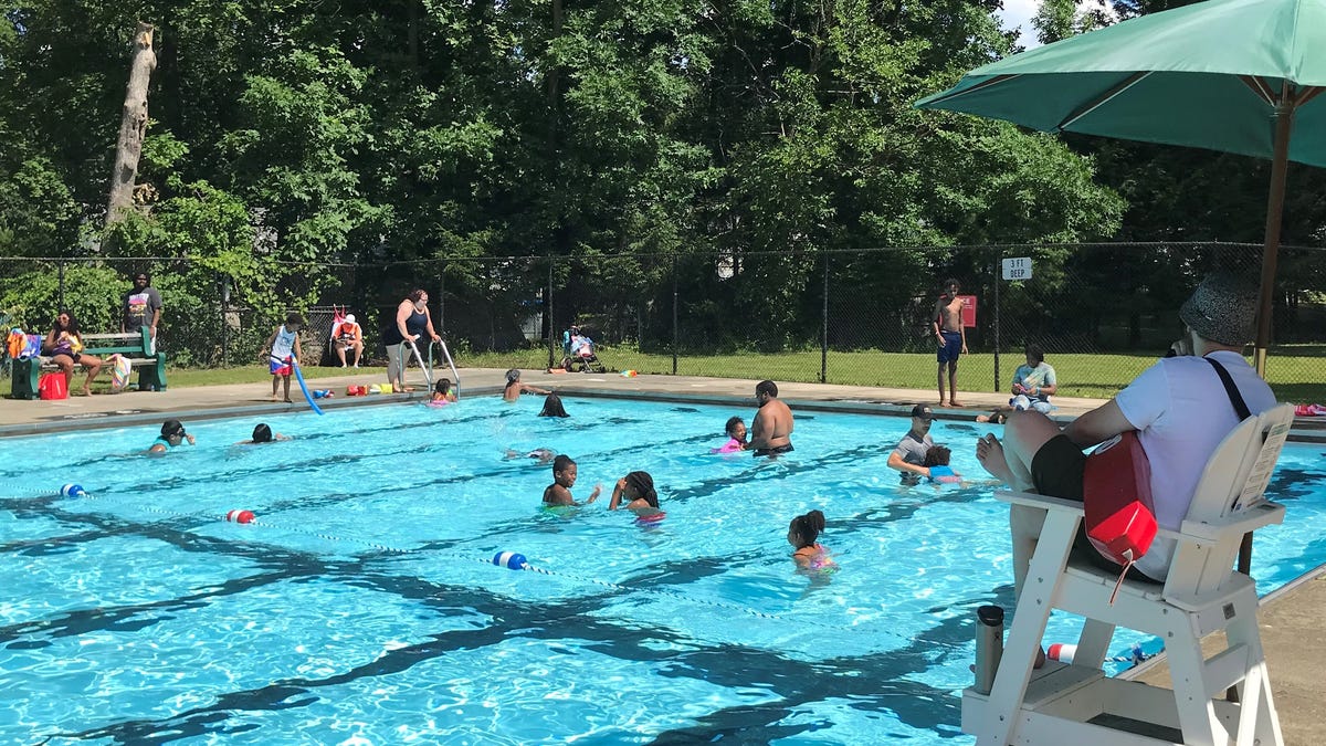
[[[1266,661],[1257,631],[1254,581],[1236,572],[1244,534],[1281,523],[1285,508],[1265,499],[1294,409],[1249,417],[1216,449],[1177,532],[1164,585],[1126,580],[1070,561],[1082,503],[1028,492],[996,492],[1009,503],[1045,508],[1041,532],[994,685],[963,692],[963,731],[981,746],[1008,743],[1281,745]],[[1033,670],[1050,609],[1086,617],[1071,665]],[[1164,640],[1174,690],[1111,678],[1101,669],[1115,625]],[[1201,638],[1224,631],[1227,646],[1205,657]],[[1237,688],[1237,702],[1224,700]]]

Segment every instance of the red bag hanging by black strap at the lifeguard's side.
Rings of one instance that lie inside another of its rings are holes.
[[[1091,546],[1123,565],[1110,596],[1113,604],[1128,568],[1151,548],[1158,528],[1151,500],[1151,462],[1136,430],[1110,438],[1087,457],[1082,503]]]

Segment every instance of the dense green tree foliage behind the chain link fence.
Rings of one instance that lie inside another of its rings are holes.
[[[357,288],[383,304],[424,281],[419,261],[438,261],[459,313],[513,316],[548,281],[537,258],[578,258],[593,277],[562,265],[553,281],[593,288],[638,332],[662,323],[671,295],[671,260],[650,256],[693,255],[678,263],[692,321],[721,336],[740,324],[723,308],[760,308],[768,323],[740,325],[744,336],[800,345],[815,338],[823,252],[911,247],[887,267],[851,267],[883,308],[976,272],[941,247],[1146,230],[1127,216],[1172,175],[1106,187],[1095,170],[1122,151],[911,108],[1013,50],[997,7],[9,4],[0,254],[88,258],[113,244],[187,258],[171,281],[200,313],[229,287],[233,303],[273,315],[337,292],[310,265],[398,263]],[[139,19],[158,28],[142,199],[95,235]],[[493,256],[530,260],[463,260]]]

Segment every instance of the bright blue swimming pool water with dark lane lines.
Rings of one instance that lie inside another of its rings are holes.
[[[709,455],[751,408],[496,397],[0,443],[0,742],[967,743],[976,607],[1012,609],[991,487],[899,487],[904,419],[804,413],[796,453]],[[937,423],[980,477],[969,425]],[[579,465],[595,504],[540,510]],[[1266,592],[1326,561],[1322,447],[1286,447]],[[36,469],[33,465],[41,465]],[[667,518],[609,512],[644,469]],[[91,498],[50,496],[78,482]],[[252,510],[256,524],[223,520]],[[841,569],[794,571],[810,508]],[[540,572],[488,560],[518,551]],[[1053,621],[1071,641],[1079,621]],[[1115,654],[1134,641],[1120,631]]]

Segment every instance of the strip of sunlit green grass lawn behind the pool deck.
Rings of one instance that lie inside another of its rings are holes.
[[[1274,350],[1273,350],[1274,352]],[[1273,354],[1268,368],[1270,384],[1281,401],[1326,402],[1326,358],[1313,354]],[[609,370],[639,370],[640,373],[672,373],[671,354],[654,354],[633,348],[599,346],[599,360]],[[1021,356],[1001,356],[996,385],[994,356],[977,353],[963,358],[959,366],[959,388],[963,390],[1002,390],[1012,380],[1013,370],[1022,362]],[[1127,385],[1138,373],[1155,362],[1152,356],[1140,354],[1054,354],[1046,362],[1054,366],[1059,378],[1059,394],[1070,397],[1109,398]],[[819,381],[819,350],[788,353],[732,353],[679,357],[676,372],[682,376],[709,376],[717,378],[770,378],[773,381]],[[467,354],[460,365],[471,368],[524,368],[542,369],[548,365],[546,349],[516,350],[511,353]],[[931,390],[935,388],[936,362],[928,353],[830,352],[827,358],[829,382],[861,386],[891,386]],[[386,368],[353,369],[355,374],[386,380]],[[345,376],[343,368],[304,368],[309,381]],[[168,373],[172,388],[212,386],[220,384],[265,384],[271,380],[265,365],[236,368],[172,368]],[[109,386],[102,376],[101,386]]]

